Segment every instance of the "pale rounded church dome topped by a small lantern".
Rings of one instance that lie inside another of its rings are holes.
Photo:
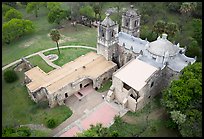
[[[149,43],[147,50],[157,56],[165,56],[166,52],[169,56],[176,55],[179,52],[179,47],[173,45],[166,37],[167,34],[162,34],[162,38],[159,37],[156,41]]]

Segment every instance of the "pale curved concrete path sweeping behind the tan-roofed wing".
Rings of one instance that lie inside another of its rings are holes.
[[[61,46],[61,47],[59,47],[59,48],[60,48],[60,49],[63,49],[63,48],[85,48],[85,49],[92,49],[92,50],[95,50],[95,51],[96,51],[96,48],[94,48],[94,47],[88,47],[88,46]],[[25,56],[25,58],[30,58],[30,57],[32,57],[32,56],[39,55],[40,53],[44,53],[44,52],[47,52],[47,51],[50,51],[50,50],[55,50],[55,49],[57,49],[57,47],[45,49],[45,50],[42,50],[42,51],[39,51],[39,52],[30,54],[30,55],[28,55],[28,56]],[[18,59],[18,60],[16,60],[16,61],[14,61],[14,62],[12,62],[12,63],[10,63],[10,64],[8,64],[8,65],[2,67],[2,71],[5,70],[5,69],[7,69],[7,68],[9,68],[9,67],[11,67],[11,66],[13,66],[13,65],[15,65],[15,64],[17,64],[17,63],[20,62],[20,61],[21,61],[21,59]],[[54,67],[54,68],[55,68],[55,67]]]

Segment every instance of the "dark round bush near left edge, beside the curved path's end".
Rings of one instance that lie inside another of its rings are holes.
[[[4,80],[7,83],[15,82],[18,79],[18,76],[14,70],[7,70],[4,72]]]

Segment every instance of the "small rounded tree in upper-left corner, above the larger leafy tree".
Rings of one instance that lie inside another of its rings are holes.
[[[9,21],[13,18],[17,18],[17,19],[22,19],[23,15],[21,12],[19,12],[18,10],[16,9],[10,9],[9,11],[6,12],[5,14],[5,20],[6,21]]]

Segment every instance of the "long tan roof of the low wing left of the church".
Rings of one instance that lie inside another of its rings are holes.
[[[115,63],[107,61],[102,55],[89,52],[49,73],[44,73],[39,67],[30,69],[25,72],[25,75],[32,81],[26,86],[31,92],[45,87],[48,93],[52,94],[78,79],[84,77],[95,79],[114,66],[116,66]]]

